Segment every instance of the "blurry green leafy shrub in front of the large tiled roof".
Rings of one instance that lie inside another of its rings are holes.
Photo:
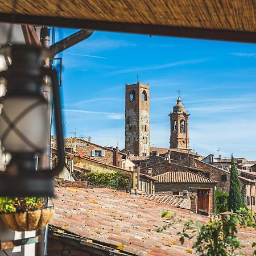
[[[162,214],[166,217],[167,214]],[[182,220],[171,218],[168,225],[158,229],[163,232],[164,229],[175,224],[182,223]],[[246,226],[256,229],[254,214],[246,208],[240,208],[236,213],[226,214],[221,219],[211,219],[207,224],[200,224],[199,221],[189,220],[185,222],[182,232],[177,233],[180,236],[180,242],[183,244],[185,239],[195,239],[192,248],[200,256],[232,256],[237,254],[237,250],[243,246],[237,238],[237,227],[245,228]],[[255,246],[256,242],[252,246]],[[254,252],[256,255],[256,251]]]

